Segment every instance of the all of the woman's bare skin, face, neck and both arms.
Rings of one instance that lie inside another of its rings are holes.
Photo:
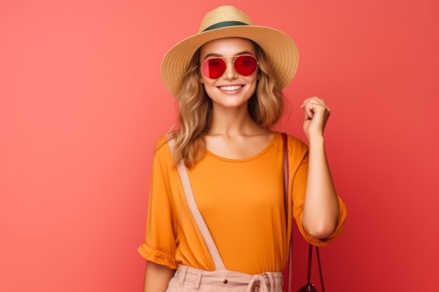
[[[200,62],[210,57],[227,57],[227,69],[216,79],[199,72],[200,81],[212,99],[212,123],[205,135],[208,151],[230,159],[243,159],[262,151],[273,138],[273,132],[257,125],[248,112],[248,99],[257,85],[258,73],[241,76],[233,67],[236,55],[255,55],[250,41],[227,38],[210,41],[201,48]],[[240,85],[238,90],[222,86]],[[303,129],[309,141],[309,170],[302,224],[313,237],[324,239],[334,232],[339,218],[339,204],[325,154],[323,132],[330,109],[323,99],[304,100]],[[149,262],[144,292],[164,292],[175,270]]]

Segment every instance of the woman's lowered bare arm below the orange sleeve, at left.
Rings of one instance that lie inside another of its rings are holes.
[[[175,270],[148,261],[145,270],[143,292],[165,292]]]

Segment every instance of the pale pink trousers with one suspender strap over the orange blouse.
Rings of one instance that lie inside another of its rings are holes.
[[[168,144],[172,152],[174,140],[168,139]],[[180,161],[177,164],[177,169],[189,209],[208,247],[215,264],[215,271],[198,270],[194,267],[180,265],[174,277],[170,280],[166,292],[282,292],[282,272],[264,272],[252,275],[227,270],[212,235],[210,235],[208,226],[196,206],[191,183],[183,162]]]

